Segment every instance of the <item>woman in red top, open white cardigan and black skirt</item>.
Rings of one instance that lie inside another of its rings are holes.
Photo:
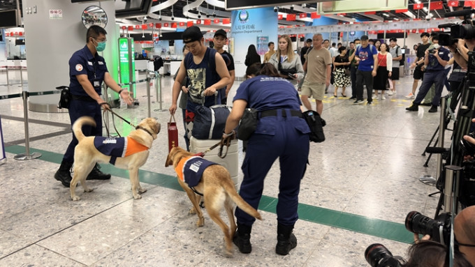
[[[378,91],[381,90],[381,100],[385,100],[384,91],[386,91],[386,82],[391,77],[393,70],[393,56],[388,52],[388,45],[381,43],[378,53],[378,69],[373,79],[374,98],[378,98]]]

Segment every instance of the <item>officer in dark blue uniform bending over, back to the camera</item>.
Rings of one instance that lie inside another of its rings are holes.
[[[309,126],[302,119],[300,98],[293,84],[279,77],[270,63],[254,63],[246,70],[250,77],[243,82],[233,100],[223,138],[233,135],[244,109],[258,110],[256,131],[248,140],[242,162],[244,178],[240,196],[254,208],[262,197],[265,176],[279,158],[280,181],[277,203],[277,254],[286,255],[297,245],[292,234],[298,220],[298,193],[309,155]],[[236,208],[238,231],[233,242],[240,252],[250,253],[250,234],[256,219]]]

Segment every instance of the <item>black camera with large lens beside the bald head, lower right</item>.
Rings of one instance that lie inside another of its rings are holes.
[[[441,213],[435,220],[411,211],[406,217],[406,229],[415,233],[430,235],[433,241],[437,241],[442,245],[448,245],[451,238],[451,214]]]

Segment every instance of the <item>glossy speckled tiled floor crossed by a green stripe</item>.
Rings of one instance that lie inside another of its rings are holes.
[[[172,79],[163,77],[161,82],[162,107],[168,109]],[[0,73],[0,84],[6,84],[5,73]],[[265,181],[259,207],[265,220],[254,224],[251,254],[235,249],[234,257],[225,257],[221,230],[207,214],[205,226],[196,228],[196,215],[188,214],[189,199],[173,169],[164,167],[170,115],[157,110],[156,93],[152,116],[162,123],[162,131],[140,172],[148,191],[138,200],[131,195],[126,171],[103,165],[112,174],[110,181],[88,181],[94,191],[78,188],[82,199],[71,201],[68,188],[53,178],[71,139],[64,113],[29,112],[30,149],[42,156],[14,160],[25,151],[22,100],[0,100],[7,151],[0,165],[0,266],[369,266],[363,254],[372,243],[405,256],[411,243],[411,233],[404,229],[407,213],[432,216],[438,200],[428,197],[436,189],[418,178],[435,175],[435,157],[425,168],[421,153],[437,128],[439,113],[429,114],[428,107],[404,110],[410,105],[404,96],[411,84],[411,77],[401,79],[397,95],[370,106],[327,95],[327,140],[311,144],[294,230],[298,246],[286,257],[274,251],[278,164]],[[231,96],[238,86],[235,82]],[[17,85],[0,86],[0,96],[19,91]],[[140,105],[116,112],[133,123],[140,121],[147,116],[145,96],[145,84],[140,84]],[[182,121],[181,114],[177,121]],[[117,124],[119,132],[130,131],[129,125]]]

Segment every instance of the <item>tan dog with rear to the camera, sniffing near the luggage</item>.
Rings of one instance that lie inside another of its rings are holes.
[[[173,165],[176,169],[182,158],[188,158],[190,156],[193,156],[193,153],[185,151],[183,148],[180,148],[180,146],[175,146],[166,158],[165,167]],[[205,223],[205,218],[203,217],[203,212],[200,210],[199,206],[201,196],[195,194],[195,192],[189,188],[189,185],[185,181],[182,181],[180,174],[178,174],[178,176],[178,183],[180,183],[183,190],[187,192],[191,204],[193,204],[190,213],[196,213],[198,215],[196,226],[202,227]],[[226,243],[226,253],[228,256],[231,256],[233,254],[233,236],[236,231],[233,202],[238,205],[242,211],[245,211],[247,214],[258,220],[262,220],[261,214],[240,197],[234,188],[234,183],[231,180],[229,171],[221,165],[210,165],[206,167],[203,171],[203,176],[201,176],[200,182],[193,188],[196,192],[203,194],[206,211],[208,215],[210,215],[210,218],[221,227],[221,230],[224,233],[224,241]],[[219,212],[223,206],[226,213],[228,213],[231,229],[226,225],[221,217],[219,217]]]

